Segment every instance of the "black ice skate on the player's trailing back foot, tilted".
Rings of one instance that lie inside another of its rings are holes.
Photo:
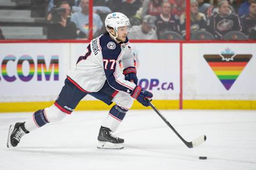
[[[20,139],[23,137],[23,135],[29,133],[29,131],[25,129],[24,124],[25,122],[10,125],[7,139],[7,148],[16,147],[19,144]]]

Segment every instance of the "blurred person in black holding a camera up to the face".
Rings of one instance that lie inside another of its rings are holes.
[[[53,8],[55,12],[51,12],[47,16],[47,39],[76,39],[76,25],[70,21],[69,14],[71,8],[68,2],[60,2],[58,8]],[[63,12],[61,12],[63,8]],[[56,12],[57,11],[57,12]]]

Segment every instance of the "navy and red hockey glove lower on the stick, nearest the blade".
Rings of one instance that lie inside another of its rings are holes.
[[[152,98],[153,94],[145,89],[141,89],[141,87],[136,86],[132,93],[131,93],[132,98],[137,99],[139,103],[141,103],[144,106],[149,106],[149,101],[146,101],[146,98]]]

